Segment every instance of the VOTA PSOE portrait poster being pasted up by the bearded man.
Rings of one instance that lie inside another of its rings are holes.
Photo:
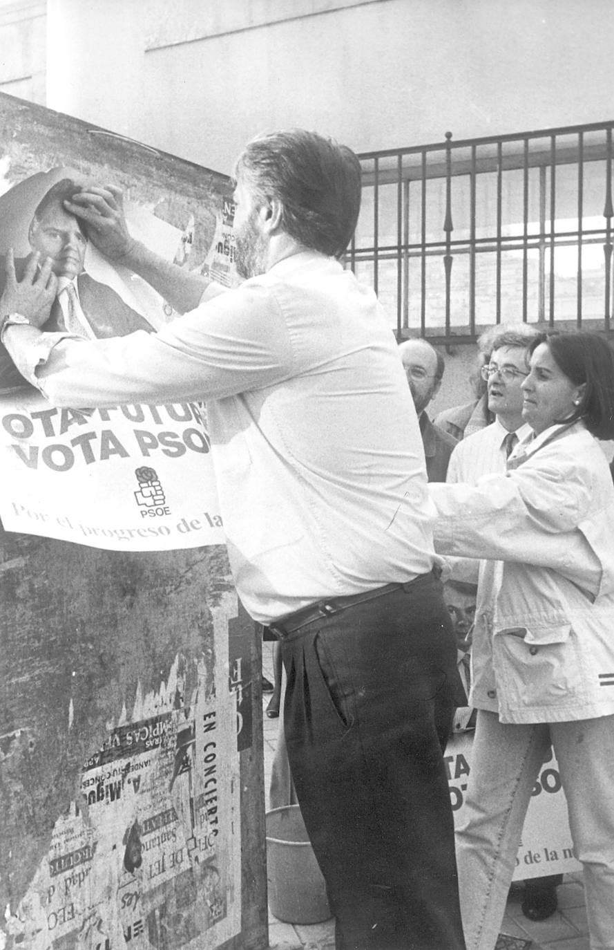
[[[18,277],[38,252],[51,259],[59,281],[44,330],[84,338],[155,332],[177,314],[140,277],[105,260],[65,209],[64,199],[85,183],[82,173],[59,167],[0,196],[0,293],[9,248]],[[129,199],[124,207],[133,237],[177,266],[232,286],[233,201],[220,196],[218,203],[214,239],[199,261],[194,215],[181,227]],[[6,530],[112,550],[224,542],[202,404],[57,409],[0,346],[0,453]]]

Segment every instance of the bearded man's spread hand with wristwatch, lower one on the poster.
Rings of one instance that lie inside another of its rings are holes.
[[[5,258],[7,281],[0,296],[0,316],[22,314],[28,317],[33,327],[42,327],[47,322],[58,290],[58,278],[51,270],[51,263],[51,258],[45,257],[41,264],[41,255],[35,251],[28,257],[22,279],[18,280],[14,253],[9,248]]]

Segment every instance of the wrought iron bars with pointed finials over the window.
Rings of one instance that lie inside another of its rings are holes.
[[[348,265],[400,338],[509,322],[610,331],[614,121],[366,152]],[[596,321],[596,322],[595,322]]]

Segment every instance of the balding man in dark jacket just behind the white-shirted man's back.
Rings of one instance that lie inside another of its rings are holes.
[[[456,439],[432,423],[425,412],[441,386],[445,369],[443,356],[420,339],[400,343],[399,353],[418,415],[427,478],[429,482],[445,482]]]

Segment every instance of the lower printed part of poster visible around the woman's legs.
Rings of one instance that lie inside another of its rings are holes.
[[[462,818],[471,771],[472,745],[473,732],[455,732],[444,756],[455,825]],[[567,874],[580,869],[581,864],[573,853],[561,776],[554,753],[550,750],[531,791],[513,880]]]

